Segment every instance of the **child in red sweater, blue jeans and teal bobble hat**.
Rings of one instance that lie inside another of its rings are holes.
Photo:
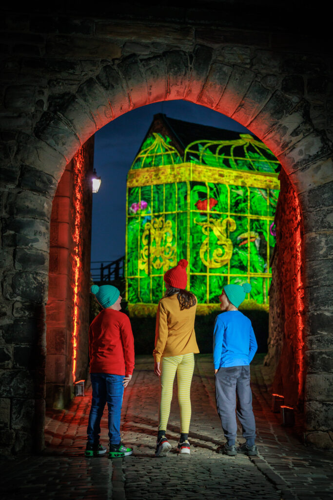
[[[112,285],[92,285],[91,292],[103,310],[89,327],[91,408],[87,427],[85,456],[106,452],[99,441],[100,420],[105,403],[108,406],[109,458],[131,455],[120,441],[120,416],[124,388],[134,369],[134,339],[131,323],[121,309],[118,288]]]

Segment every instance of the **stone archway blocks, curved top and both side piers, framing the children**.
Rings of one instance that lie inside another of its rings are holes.
[[[265,69],[264,60],[261,64]],[[307,101],[304,96],[295,99],[283,92],[278,80],[269,81],[264,69],[260,73],[258,61],[253,67],[242,64],[241,59],[235,63],[226,57],[223,61],[216,50],[206,45],[196,45],[189,52],[169,48],[149,57],[131,54],[100,65],[93,76],[81,78],[75,92],[51,96],[42,115],[32,120],[33,129],[27,132],[18,125],[11,139],[15,150],[8,160],[9,189],[2,225],[5,342],[11,341],[15,349],[17,340],[10,335],[18,332],[18,337],[21,334],[30,342],[32,350],[40,352],[35,369],[11,365],[2,373],[3,386],[8,387],[3,397],[9,413],[13,411],[17,388],[19,397],[27,401],[21,408],[27,412],[25,421],[28,426],[30,422],[30,428],[22,430],[18,418],[11,419],[16,421],[16,426],[10,428],[12,442],[24,441],[24,435],[33,427],[37,448],[42,447],[47,273],[38,264],[38,255],[45,258],[48,252],[50,207],[57,181],[78,148],[111,119],[150,102],[185,99],[223,112],[252,130],[279,158],[288,186],[296,193],[304,224],[306,430],[312,433],[312,442],[327,446],[332,427],[332,416],[330,420],[328,415],[333,375],[318,333],[322,325],[329,326],[329,295],[321,280],[331,275],[331,222],[329,209],[322,207],[331,204],[332,163],[329,141],[313,126]],[[20,91],[13,89],[12,99]],[[21,165],[28,168],[28,176]],[[43,190],[36,191],[34,185],[38,183]],[[18,263],[21,249],[31,255],[23,264]],[[35,340],[26,338],[26,316],[32,318]],[[327,348],[332,349],[330,337],[326,335],[325,340],[329,341]],[[9,352],[7,345],[4,348]],[[23,380],[24,392],[19,391]]]

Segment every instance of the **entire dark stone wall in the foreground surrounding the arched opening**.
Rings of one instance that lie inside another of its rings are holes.
[[[49,224],[57,183],[96,130],[126,111],[169,99],[203,104],[247,126],[293,185],[304,226],[306,426],[314,431],[311,442],[322,443],[333,400],[330,44],[312,29],[307,34],[302,22],[297,35],[293,23],[282,29],[280,21],[261,24],[257,15],[247,27],[237,8],[227,19],[202,3],[164,8],[164,16],[126,13],[123,5],[115,17],[95,4],[93,15],[85,7],[85,15],[65,16],[47,4],[38,12],[27,5],[23,14],[6,7],[0,86],[4,451],[8,441],[15,452],[28,449],[32,426],[34,444],[43,445]]]

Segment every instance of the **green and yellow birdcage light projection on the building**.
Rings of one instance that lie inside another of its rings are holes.
[[[197,140],[183,157],[153,132],[127,177],[126,299],[133,315],[156,312],[163,275],[189,261],[198,312],[219,308],[228,283],[252,285],[246,308],[268,310],[279,161],[250,134]]]

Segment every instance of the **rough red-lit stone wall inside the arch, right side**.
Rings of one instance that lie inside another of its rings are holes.
[[[297,194],[284,171],[280,181],[277,246],[270,290],[269,353],[265,361],[277,366],[273,391],[283,394],[286,404],[302,409],[305,382],[303,223]]]

